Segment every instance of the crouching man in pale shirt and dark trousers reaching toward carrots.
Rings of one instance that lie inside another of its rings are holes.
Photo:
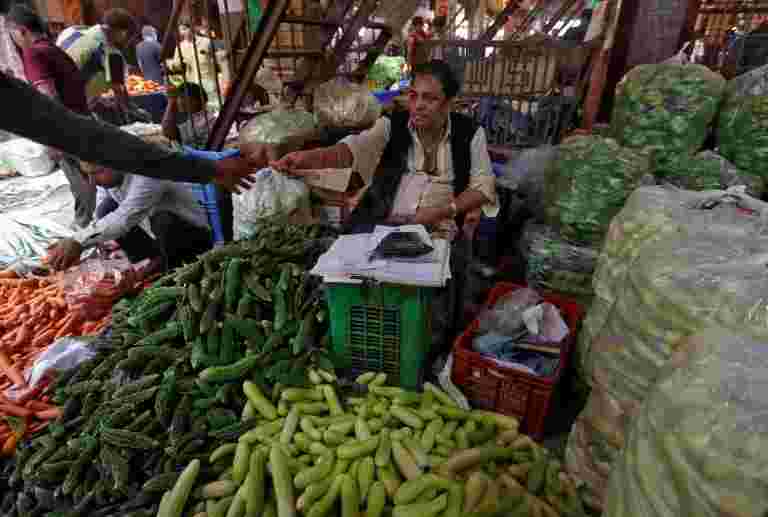
[[[86,163],[83,171],[99,187],[95,221],[49,248],[47,262],[53,268],[66,269],[84,250],[113,240],[131,262],[152,259],[151,271],[196,260],[213,246],[208,216],[191,185]]]

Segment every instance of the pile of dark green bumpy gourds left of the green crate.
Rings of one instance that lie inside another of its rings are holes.
[[[120,301],[96,355],[49,388],[63,417],[3,465],[0,515],[154,514],[190,461],[256,425],[240,420],[245,379],[267,389],[332,370],[306,272],[324,232],[265,227]]]

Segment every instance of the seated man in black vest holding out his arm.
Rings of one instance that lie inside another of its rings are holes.
[[[370,232],[377,224],[423,224],[453,242],[451,285],[433,304],[435,352],[450,345],[462,324],[469,243],[459,230],[465,216],[498,213],[485,131],[451,113],[458,92],[450,66],[433,60],[414,70],[408,113],[382,117],[335,146],[290,153],[272,163],[289,173],[352,168],[359,174],[368,188],[346,223],[348,233]]]

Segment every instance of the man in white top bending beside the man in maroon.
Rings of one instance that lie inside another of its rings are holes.
[[[112,92],[121,108],[128,106],[123,50],[133,40],[137,24],[125,9],[110,9],[103,23],[90,28],[71,28],[59,35],[57,45],[75,61],[87,81],[86,95],[92,105]]]

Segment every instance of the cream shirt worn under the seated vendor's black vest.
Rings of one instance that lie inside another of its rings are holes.
[[[429,175],[424,171],[424,147],[419,140],[419,136],[414,129],[409,129],[413,143],[408,149],[407,166],[408,171],[403,176],[401,186],[412,183],[412,175],[426,176],[426,182],[413,182],[423,185],[421,195],[415,203],[405,199],[406,192],[401,189],[395,199],[395,207],[410,206],[408,211],[417,210],[420,207],[437,208],[446,207],[454,200],[453,192],[453,156],[451,154],[451,124],[448,127],[437,149],[437,172],[438,174]],[[370,184],[373,175],[384,153],[384,149],[389,143],[391,133],[391,122],[387,117],[381,117],[371,129],[363,131],[357,135],[350,135],[342,140],[346,144],[352,156],[354,157],[353,169],[360,174],[366,184]],[[488,155],[488,143],[485,137],[485,130],[480,127],[470,144],[471,167],[469,190],[476,190],[483,194],[488,203],[483,205],[483,213],[486,217],[496,217],[499,213],[499,202],[496,196],[496,178],[493,175],[491,158]],[[426,183],[426,184],[424,184]],[[411,197],[411,195],[407,195]],[[440,225],[440,229],[455,233],[455,224],[453,221],[446,221]]]

